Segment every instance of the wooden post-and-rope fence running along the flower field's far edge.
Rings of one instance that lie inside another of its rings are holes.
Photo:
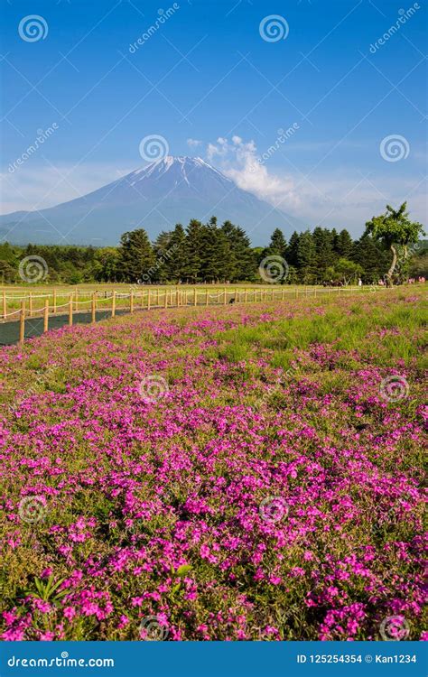
[[[68,324],[73,325],[74,315],[79,312],[90,312],[91,321],[97,321],[97,311],[110,311],[110,316],[115,317],[116,311],[127,311],[129,313],[135,310],[154,310],[156,308],[180,308],[180,307],[196,307],[209,305],[227,305],[228,303],[255,303],[259,301],[285,301],[286,297],[293,296],[293,299],[299,298],[316,298],[322,296],[337,295],[340,296],[347,292],[368,292],[368,290],[383,290],[384,287],[306,287],[294,289],[286,289],[284,287],[266,289],[266,288],[237,288],[224,289],[218,292],[209,292],[208,289],[164,289],[159,288],[151,290],[146,289],[142,292],[130,291],[116,292],[116,290],[109,290],[108,292],[88,292],[86,296],[90,295],[87,301],[79,300],[79,294],[76,292],[61,293],[57,290],[44,295],[33,295],[31,292],[24,297],[10,297],[3,292],[2,301],[2,320],[11,320],[14,316],[19,315],[19,343],[23,343],[25,336],[25,320],[36,318],[37,316],[43,319],[43,332],[49,329],[50,317],[59,315],[69,316]],[[109,295],[108,295],[109,293]],[[102,296],[99,296],[102,294]],[[44,299],[42,308],[34,308],[33,300],[39,298]],[[65,303],[58,304],[58,299],[67,298]],[[20,309],[17,311],[8,311],[7,301],[14,299],[14,301],[21,301]],[[50,302],[51,301],[51,302]],[[109,308],[103,308],[102,304],[107,301]],[[120,301],[125,301],[120,304]],[[27,306],[28,302],[28,306]],[[89,307],[90,304],[90,307]],[[67,309],[60,311],[60,309]]]

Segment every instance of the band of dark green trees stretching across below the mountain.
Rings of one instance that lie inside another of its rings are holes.
[[[423,233],[408,219],[405,205],[388,207],[374,217],[363,236],[354,240],[347,229],[315,227],[293,232],[287,241],[276,228],[265,247],[252,247],[243,228],[216,218],[177,224],[153,243],[145,230],[124,233],[119,246],[0,246],[0,280],[20,283],[19,263],[25,256],[46,262],[47,283],[238,283],[263,282],[265,261],[286,262],[280,283],[392,283],[409,274],[426,275],[426,255],[409,251]],[[401,257],[401,258],[400,258]]]

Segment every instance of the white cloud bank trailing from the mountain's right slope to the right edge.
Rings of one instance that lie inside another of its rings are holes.
[[[276,141],[271,149],[276,148]],[[219,137],[207,148],[208,159],[216,159],[219,169],[239,188],[299,218],[308,227],[349,227],[361,234],[366,221],[384,211],[387,202],[398,205],[406,199],[412,218],[422,223],[426,220],[426,195],[420,178],[397,176],[392,180],[390,176],[364,175],[353,169],[319,170],[309,176],[297,170],[273,172],[264,159],[273,154],[257,153],[254,141],[245,142],[237,135],[230,142]]]

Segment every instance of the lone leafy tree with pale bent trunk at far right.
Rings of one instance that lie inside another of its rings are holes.
[[[404,259],[407,258],[407,247],[414,245],[419,236],[424,235],[422,224],[411,221],[405,210],[407,202],[403,202],[399,209],[393,209],[386,205],[386,212],[379,217],[373,217],[366,224],[366,234],[370,234],[375,240],[381,240],[392,252],[393,259],[386,273],[386,284],[393,286],[393,275],[397,261],[397,248],[403,247]]]

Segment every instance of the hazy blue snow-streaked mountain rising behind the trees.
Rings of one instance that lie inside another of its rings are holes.
[[[115,246],[127,230],[142,227],[154,240],[176,223],[212,216],[243,227],[253,246],[267,245],[275,227],[285,236],[303,229],[298,219],[241,190],[201,158],[168,155],[81,198],[5,214],[0,238],[15,245]]]

